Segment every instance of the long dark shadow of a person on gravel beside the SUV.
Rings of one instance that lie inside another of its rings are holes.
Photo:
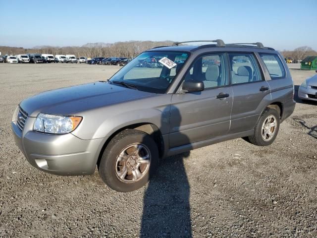
[[[176,121],[174,126],[179,127],[179,110],[172,107],[171,111],[173,121]],[[186,135],[180,134],[178,139],[190,143]],[[141,238],[192,237],[190,185],[184,166],[184,160],[189,155],[190,152],[187,152],[163,159],[157,173],[149,181],[143,200]]]

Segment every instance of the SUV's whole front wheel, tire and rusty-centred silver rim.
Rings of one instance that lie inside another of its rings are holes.
[[[139,130],[118,133],[107,145],[98,172],[112,189],[129,192],[144,186],[159,165],[159,151],[152,137]]]

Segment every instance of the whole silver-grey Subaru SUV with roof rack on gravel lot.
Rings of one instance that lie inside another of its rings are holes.
[[[107,81],[23,100],[16,144],[34,167],[91,175],[117,191],[142,187],[159,159],[245,137],[271,144],[295,107],[280,54],[261,43],[148,50]]]

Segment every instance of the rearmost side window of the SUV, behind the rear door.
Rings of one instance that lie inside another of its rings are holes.
[[[260,54],[271,79],[285,78],[285,68],[277,55]]]

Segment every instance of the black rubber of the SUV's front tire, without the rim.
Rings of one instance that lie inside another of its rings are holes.
[[[116,174],[116,159],[128,145],[142,143],[150,152],[150,167],[140,180],[124,182]],[[112,189],[119,192],[130,192],[143,187],[159,166],[159,151],[152,137],[139,130],[127,129],[115,135],[107,145],[98,165],[100,178]]]

